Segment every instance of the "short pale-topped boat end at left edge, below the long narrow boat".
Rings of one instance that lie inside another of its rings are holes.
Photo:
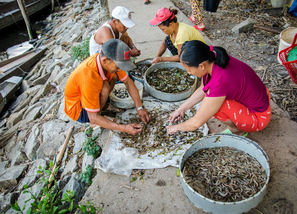
[[[0,112],[5,104],[11,100],[22,81],[22,77],[13,76],[0,84]]]

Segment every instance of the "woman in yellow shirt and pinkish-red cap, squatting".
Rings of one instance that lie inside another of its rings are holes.
[[[198,30],[185,23],[177,22],[175,16],[177,13],[178,10],[176,9],[163,7],[158,10],[155,18],[149,21],[151,26],[158,26],[167,35],[159,47],[156,58],[151,64],[158,62],[179,62],[178,55],[186,41],[200,40],[205,43],[203,36]],[[165,53],[166,48],[168,48],[173,56],[161,57]]]

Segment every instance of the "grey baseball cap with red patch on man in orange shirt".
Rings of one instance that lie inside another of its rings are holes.
[[[102,45],[102,52],[112,59],[121,70],[130,71],[136,68],[136,65],[130,59],[130,48],[121,40],[107,40]]]

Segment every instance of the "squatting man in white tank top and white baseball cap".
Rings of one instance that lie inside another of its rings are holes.
[[[122,40],[131,49],[131,56],[139,56],[140,50],[135,47],[127,33],[130,27],[136,25],[131,19],[131,12],[125,7],[118,6],[113,9],[111,15],[111,20],[104,23],[92,34],[89,42],[90,56],[100,52],[102,44],[109,39]]]

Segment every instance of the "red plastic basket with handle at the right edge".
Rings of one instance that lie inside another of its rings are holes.
[[[297,84],[297,60],[287,62],[287,56],[289,52],[297,46],[297,44],[295,44],[296,39],[297,39],[297,34],[294,37],[294,41],[292,45],[279,52],[279,59],[280,61],[282,61],[282,64],[286,67],[288,73],[290,74],[295,84]]]

